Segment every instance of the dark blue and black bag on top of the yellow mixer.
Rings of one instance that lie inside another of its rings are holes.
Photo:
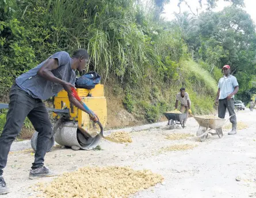
[[[96,84],[99,84],[101,81],[101,76],[96,72],[88,72],[85,75],[78,77],[75,81],[75,87],[85,88],[91,90],[95,87]]]

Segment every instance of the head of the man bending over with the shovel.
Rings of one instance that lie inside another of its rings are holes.
[[[74,68],[77,69],[79,72],[82,72],[85,69],[86,65],[89,61],[89,55],[86,49],[78,49],[72,55],[73,65]]]

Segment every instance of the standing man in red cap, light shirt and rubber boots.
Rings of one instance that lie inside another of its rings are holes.
[[[232,130],[228,135],[236,134],[236,115],[235,115],[235,104],[234,104],[234,95],[238,92],[238,81],[235,76],[230,74],[230,65],[224,65],[223,67],[224,76],[219,80],[219,89],[217,91],[217,96],[215,104],[218,105],[218,114],[219,118],[225,118],[226,109],[228,112],[233,115],[230,118],[232,123]],[[220,134],[222,129],[218,129]]]

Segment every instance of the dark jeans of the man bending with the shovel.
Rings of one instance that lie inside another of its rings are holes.
[[[26,117],[29,118],[35,130],[39,133],[32,169],[44,165],[44,156],[52,134],[48,111],[42,100],[32,98],[27,92],[14,84],[10,91],[10,103],[5,127],[0,137],[0,175],[3,174],[3,168],[6,166],[10,146],[20,133]]]

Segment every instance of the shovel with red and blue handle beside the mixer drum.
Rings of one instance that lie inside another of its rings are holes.
[[[75,99],[77,99],[78,102],[82,104],[83,108],[85,108],[85,110],[86,110],[87,112],[89,112],[90,117],[95,117],[95,115],[94,115],[93,112],[90,110],[90,108],[87,107],[86,104],[82,101],[82,99],[78,96],[77,91],[75,91],[75,88],[71,87],[71,91],[72,91],[72,96],[74,96]],[[108,136],[105,136],[105,135],[104,135],[103,126],[101,125],[99,119],[98,119],[98,121],[96,121],[95,123],[97,123],[98,126],[99,126],[100,129],[101,129],[100,132],[97,131],[97,134],[101,135],[102,138],[104,138],[104,139],[106,139],[106,140],[108,140],[108,141],[110,141],[110,142],[122,143],[122,142],[117,141],[116,139],[112,139],[112,138],[109,138]],[[95,125],[94,125],[94,127],[95,127]]]

